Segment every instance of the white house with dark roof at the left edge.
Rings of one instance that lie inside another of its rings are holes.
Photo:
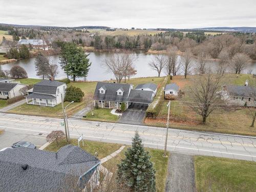
[[[2,80],[2,79],[1,79]],[[27,86],[27,84],[21,84],[11,80],[0,80],[0,99],[8,99],[22,95],[19,92],[20,89]]]

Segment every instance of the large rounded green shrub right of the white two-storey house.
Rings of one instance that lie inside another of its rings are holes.
[[[84,96],[84,93],[80,88],[70,86],[69,88],[66,89],[65,101],[81,102],[83,96]]]

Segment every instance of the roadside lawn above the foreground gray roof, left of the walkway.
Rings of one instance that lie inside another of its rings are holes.
[[[66,139],[63,139],[59,141],[58,146],[56,145],[56,142],[52,142],[44,150],[57,152],[60,147],[65,146],[67,144],[78,145],[77,139],[71,139],[70,143],[67,143]],[[97,152],[99,159],[102,159],[112,154],[113,152],[119,150],[121,146],[122,146],[121,144],[117,144],[117,143],[104,143],[104,142],[90,141],[90,140],[84,140],[84,146],[82,146],[82,141],[80,141],[80,147],[83,150],[89,152],[92,155],[95,155],[95,152]]]

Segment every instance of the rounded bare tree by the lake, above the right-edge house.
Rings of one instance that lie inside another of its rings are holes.
[[[236,72],[236,74],[240,74],[241,71],[245,68],[246,62],[250,60],[250,57],[245,53],[237,53],[233,56],[231,60],[231,65]]]

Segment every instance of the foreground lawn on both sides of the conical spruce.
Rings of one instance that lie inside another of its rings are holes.
[[[115,156],[114,158],[110,159],[103,163],[105,167],[112,167],[113,165],[117,165],[121,162],[122,159],[125,158],[125,151],[129,146],[126,146],[123,151]],[[158,192],[165,191],[165,182],[167,177],[167,166],[168,166],[168,158],[163,157],[163,150],[156,150],[153,148],[145,148],[146,151],[150,153],[151,161],[153,162],[154,168],[156,169],[156,188]],[[168,153],[169,155],[169,153]],[[117,168],[117,166],[116,166]]]

